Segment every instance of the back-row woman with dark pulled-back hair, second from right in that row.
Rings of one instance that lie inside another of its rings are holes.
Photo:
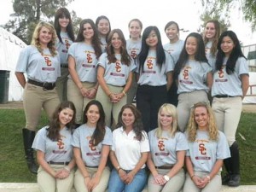
[[[170,42],[164,45],[164,49],[170,55],[172,55],[172,59],[175,65],[184,45],[184,41],[179,39],[179,27],[177,22],[168,22],[165,27],[165,32]],[[170,90],[168,91],[167,101],[177,106],[177,84],[172,84]]]

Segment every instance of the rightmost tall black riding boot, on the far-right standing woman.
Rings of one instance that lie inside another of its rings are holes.
[[[240,185],[240,162],[239,162],[239,148],[238,144],[234,142],[230,147],[230,187],[237,187]]]

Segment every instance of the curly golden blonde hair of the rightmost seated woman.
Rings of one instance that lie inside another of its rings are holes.
[[[208,131],[209,137],[212,141],[218,140],[218,127],[216,125],[215,116],[213,114],[212,108],[207,102],[197,102],[190,110],[189,124],[187,126],[187,131],[189,135],[189,142],[195,142],[196,131],[198,126],[195,122],[195,108],[203,107],[207,109],[207,113],[209,116],[208,120]]]

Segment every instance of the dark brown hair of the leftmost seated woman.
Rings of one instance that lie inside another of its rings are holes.
[[[48,130],[48,135],[47,137],[49,137],[50,140],[52,141],[56,141],[57,139],[59,139],[60,136],[60,119],[59,119],[59,115],[61,113],[61,111],[65,108],[70,108],[71,110],[73,110],[73,118],[71,119],[71,121],[66,125],[67,128],[69,130],[73,130],[73,128],[75,127],[75,116],[76,116],[76,108],[74,107],[73,102],[61,102],[58,107],[55,109],[55,112],[53,113],[52,119],[50,119],[49,121],[49,128]]]

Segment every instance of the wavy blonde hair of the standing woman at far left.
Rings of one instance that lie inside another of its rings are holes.
[[[49,29],[49,32],[52,34],[52,39],[49,42],[49,44],[47,44],[47,47],[49,48],[50,54],[52,56],[55,56],[55,55],[57,55],[57,51],[56,51],[56,48],[55,48],[57,35],[56,35],[56,32],[55,32],[55,27],[52,26],[51,24],[49,24],[47,22],[44,22],[44,21],[40,21],[38,23],[38,25],[36,26],[34,32],[33,32],[32,43],[31,44],[34,45],[38,49],[38,51],[41,53],[41,55],[43,55],[43,49],[42,49],[41,44],[39,42],[39,33],[40,33],[40,31],[43,27]]]

